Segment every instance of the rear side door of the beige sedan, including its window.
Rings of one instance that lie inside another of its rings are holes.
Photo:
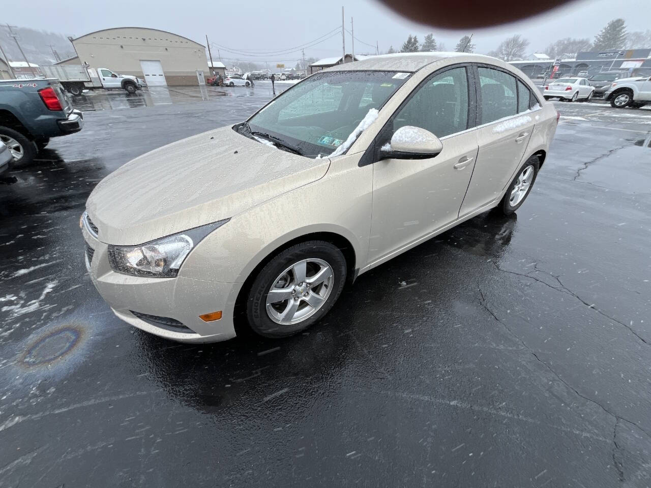
[[[478,65],[475,75],[479,152],[460,217],[501,198],[533,132],[535,116],[525,112],[537,103],[525,83],[499,68]]]

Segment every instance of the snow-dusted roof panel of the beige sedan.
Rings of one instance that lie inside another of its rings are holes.
[[[495,62],[497,59],[484,56],[482,54],[456,53],[449,51],[433,51],[428,53],[395,53],[381,54],[379,56],[369,56],[367,59],[361,59],[355,62],[346,62],[326,68],[324,71],[350,71],[350,70],[387,70],[387,71],[404,71],[416,72],[431,64],[432,62],[441,61],[454,57],[471,57],[475,62]]]

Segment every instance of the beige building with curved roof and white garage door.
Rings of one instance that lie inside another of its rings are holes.
[[[209,73],[205,46],[158,29],[117,27],[71,41],[77,56],[57,64],[87,62],[90,68],[137,76],[150,87],[198,85],[197,70]]]

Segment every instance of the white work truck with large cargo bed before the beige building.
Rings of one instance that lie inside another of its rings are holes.
[[[55,64],[41,66],[46,78],[57,78],[62,87],[73,95],[81,95],[83,90],[122,89],[129,93],[140,90],[145,81],[132,76],[120,75],[108,68],[89,68],[86,64]]]

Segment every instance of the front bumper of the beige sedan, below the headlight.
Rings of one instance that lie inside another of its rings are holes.
[[[218,342],[233,338],[233,310],[239,284],[187,277],[151,278],[116,273],[111,269],[108,245],[99,241],[84,222],[85,262],[90,278],[118,318],[138,329],[178,342]],[[200,315],[222,311],[221,319],[204,322]],[[135,314],[133,313],[135,312]],[[169,327],[146,316],[173,319]]]

